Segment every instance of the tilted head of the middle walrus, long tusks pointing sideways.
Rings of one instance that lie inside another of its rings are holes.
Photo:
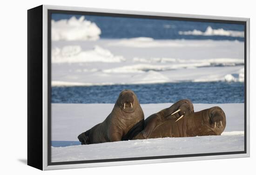
[[[165,118],[166,119],[176,119],[176,121],[182,119],[183,117],[189,116],[194,113],[194,106],[190,100],[179,100],[172,106],[166,108]]]

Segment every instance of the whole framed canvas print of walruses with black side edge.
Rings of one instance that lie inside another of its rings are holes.
[[[28,165],[249,156],[249,19],[28,12]]]

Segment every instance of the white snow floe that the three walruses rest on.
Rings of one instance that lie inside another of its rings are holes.
[[[141,104],[145,118],[172,105]],[[229,152],[244,150],[244,104],[194,104],[195,111],[212,106],[224,110],[221,136],[155,138],[102,144],[51,147],[52,162]],[[114,104],[52,104],[52,140],[78,141],[77,136],[102,122]]]

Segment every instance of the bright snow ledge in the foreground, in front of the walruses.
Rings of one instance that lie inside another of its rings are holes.
[[[152,138],[52,147],[52,162],[219,153],[244,150],[244,135]]]

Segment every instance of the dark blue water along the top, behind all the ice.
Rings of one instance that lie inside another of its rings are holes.
[[[72,16],[80,18],[81,15],[52,14],[55,21],[70,19]],[[241,37],[229,36],[196,36],[180,35],[179,31],[206,31],[208,26],[212,29],[243,31],[243,25],[226,23],[194,22],[166,19],[140,19],[125,17],[109,17],[86,15],[85,19],[94,22],[101,29],[101,38],[136,38],[149,37],[154,39],[213,39],[213,40],[239,40]]]

